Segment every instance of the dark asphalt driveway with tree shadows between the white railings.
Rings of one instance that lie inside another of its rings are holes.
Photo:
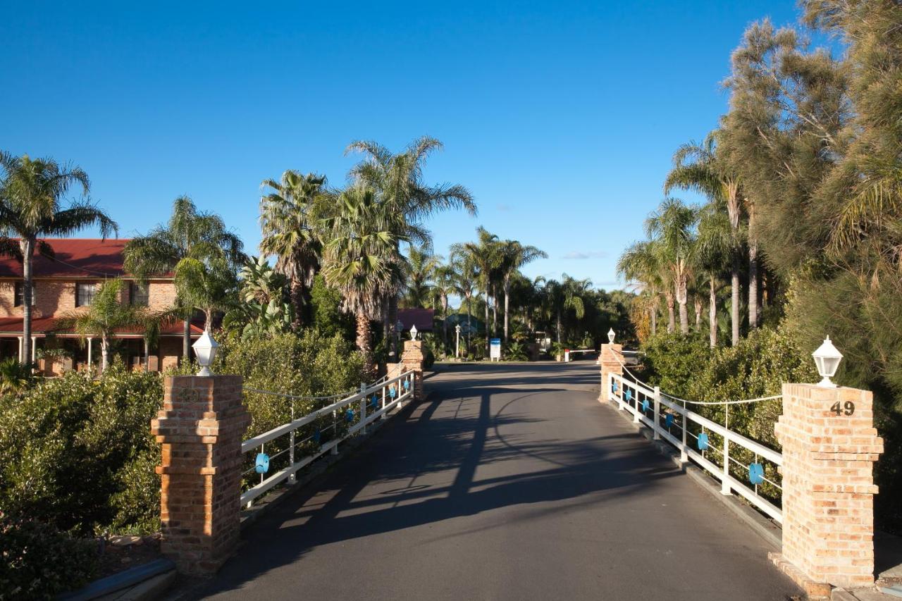
[[[595,400],[588,361],[456,366],[252,527],[223,599],[787,599],[767,544]]]

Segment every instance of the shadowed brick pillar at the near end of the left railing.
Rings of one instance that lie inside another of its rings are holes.
[[[235,550],[250,423],[240,375],[179,375],[163,384],[163,409],[151,421],[162,444],[161,551],[183,574],[211,576]]]

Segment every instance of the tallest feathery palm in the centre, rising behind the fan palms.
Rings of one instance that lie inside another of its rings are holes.
[[[406,238],[418,244],[431,245],[431,236],[421,222],[439,210],[465,208],[471,215],[476,214],[473,195],[464,186],[430,186],[423,181],[423,168],[428,156],[442,147],[436,138],[424,135],[408,144],[401,153],[391,153],[388,148],[373,141],[353,142],[345,151],[364,154],[364,161],[351,171],[352,178],[373,188],[381,202],[403,217],[399,229],[391,232],[398,240]],[[394,294],[388,299],[385,316],[389,329],[394,328],[398,321],[397,291]],[[392,336],[392,353],[395,351],[394,345]]]

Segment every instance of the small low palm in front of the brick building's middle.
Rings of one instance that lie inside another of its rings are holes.
[[[100,284],[94,301],[85,311],[70,311],[58,321],[56,328],[73,330],[81,337],[100,337],[100,369],[109,365],[110,343],[116,331],[139,328],[145,339],[155,337],[162,317],[143,307],[122,301],[122,280],[115,278]]]

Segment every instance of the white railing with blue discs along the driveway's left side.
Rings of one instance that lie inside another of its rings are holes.
[[[264,393],[264,391],[256,390],[253,392]],[[267,456],[266,462],[268,465],[270,461],[279,458],[286,453],[289,457],[288,465],[286,467],[282,467],[272,474],[269,474],[268,469],[263,470],[260,474],[260,482],[257,485],[248,488],[241,494],[241,504],[250,506],[254,499],[271,490],[274,486],[280,485],[286,480],[294,482],[295,475],[298,473],[299,469],[308,466],[327,452],[332,455],[337,455],[338,444],[340,442],[351,438],[358,432],[365,433],[366,427],[369,424],[376,420],[384,420],[391,410],[396,407],[398,409],[403,407],[404,401],[409,399],[413,393],[414,372],[410,370],[390,379],[382,378],[376,384],[361,384],[360,391],[357,393],[351,394],[340,401],[332,402],[325,407],[312,411],[296,420],[292,419],[292,421],[273,428],[268,432],[258,434],[252,439],[244,440],[241,444],[241,452],[243,454],[251,452],[265,454],[267,443],[271,443],[273,440],[281,439],[282,437],[288,437],[287,446],[272,455],[272,457]],[[277,396],[288,396],[291,398],[290,395],[278,393],[272,394]],[[292,413],[293,411],[292,406]],[[313,434],[298,439],[297,431],[299,429],[308,424],[320,421],[323,418],[328,419],[329,415],[332,417],[331,423],[316,430]],[[350,425],[345,430],[344,425],[347,423]],[[319,444],[319,441],[323,438],[324,434],[331,438],[326,442]],[[316,448],[303,458],[297,459],[295,457],[297,448],[310,441],[313,441]],[[248,476],[249,474],[256,472],[257,467],[254,465],[254,467],[244,471],[242,476]]]

